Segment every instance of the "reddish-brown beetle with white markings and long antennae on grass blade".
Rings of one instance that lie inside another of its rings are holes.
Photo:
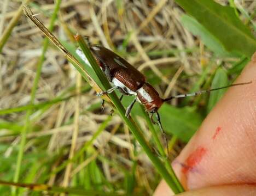
[[[106,47],[99,45],[90,45],[90,50],[97,64],[100,66],[101,70],[104,72],[109,82],[112,83],[113,86],[112,88],[97,93],[96,95],[102,96],[105,94],[110,94],[115,89],[119,89],[123,95],[135,96],[135,99],[126,108],[126,117],[129,117],[133,105],[135,104],[136,101],[138,101],[146,108],[146,111],[150,114],[150,119],[154,124],[155,122],[153,120],[153,114],[156,114],[156,122],[159,125],[162,133],[164,133],[164,135],[166,134],[164,129],[162,128],[160,115],[158,113],[158,109],[164,102],[181,97],[196,96],[202,93],[210,93],[210,91],[213,90],[228,88],[235,85],[251,83],[236,83],[225,87],[201,90],[195,93],[181,94],[168,97],[167,99],[162,99],[159,96],[158,91],[156,91],[154,87],[146,81],[146,77],[136,68],[134,68],[130,63],[128,63],[125,59],[120,57],[118,54],[108,50]],[[85,61],[86,64],[90,65],[88,59],[85,57],[84,53],[79,48],[77,49],[76,53]],[[123,95],[120,97],[120,100],[123,98]],[[104,101],[102,103],[102,106],[103,105]]]

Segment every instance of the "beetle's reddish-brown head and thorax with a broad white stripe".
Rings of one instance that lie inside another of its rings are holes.
[[[137,100],[146,107],[148,112],[157,111],[163,103],[158,92],[149,83],[144,83],[136,93]]]

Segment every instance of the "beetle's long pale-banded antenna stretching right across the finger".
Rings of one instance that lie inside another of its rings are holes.
[[[234,87],[236,85],[245,85],[245,84],[251,84],[252,81],[250,82],[244,82],[244,83],[236,83],[236,84],[231,84],[231,85],[227,85],[225,87],[219,87],[219,88],[214,88],[214,89],[207,89],[207,90],[200,90],[200,91],[196,91],[194,93],[188,93],[188,94],[181,94],[181,95],[176,95],[176,96],[171,96],[168,97],[167,99],[164,99],[163,101],[170,101],[172,99],[177,99],[177,98],[183,98],[183,97],[187,97],[187,96],[197,96],[197,95],[201,95],[203,93],[210,93],[211,91],[214,90],[220,90],[220,89],[225,89],[225,88],[229,88],[229,87]]]

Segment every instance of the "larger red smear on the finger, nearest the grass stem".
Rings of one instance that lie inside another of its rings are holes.
[[[182,173],[187,176],[188,172],[195,168],[196,164],[200,163],[202,157],[206,154],[206,149],[199,146],[194,152],[192,152],[185,161]]]

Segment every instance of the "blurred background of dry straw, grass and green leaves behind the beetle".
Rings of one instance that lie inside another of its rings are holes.
[[[63,42],[77,47],[78,32],[120,54],[161,97],[228,85],[256,51],[253,0],[25,2]],[[161,177],[119,116],[109,115],[111,106],[101,112],[101,98],[22,13],[21,1],[3,0],[0,10],[0,179],[81,194],[152,194]],[[171,160],[224,92],[160,108]],[[132,115],[155,149],[137,103]],[[0,186],[1,195],[10,191]]]

